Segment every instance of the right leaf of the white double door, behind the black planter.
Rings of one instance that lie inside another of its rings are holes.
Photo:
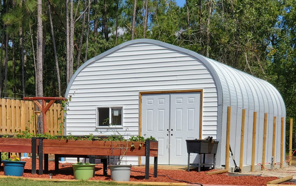
[[[170,96],[170,164],[187,164],[186,139],[199,139],[200,92],[171,93]],[[197,163],[196,155],[190,158]]]

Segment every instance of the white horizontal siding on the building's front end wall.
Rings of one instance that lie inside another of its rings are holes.
[[[122,47],[85,66],[75,77],[68,95],[66,133],[113,134],[96,129],[96,106],[123,105],[123,135],[139,134],[139,92],[203,89],[202,134],[217,138],[217,88],[207,67],[192,55],[157,44]],[[197,134],[198,138],[198,134]],[[138,164],[137,157],[127,157]]]

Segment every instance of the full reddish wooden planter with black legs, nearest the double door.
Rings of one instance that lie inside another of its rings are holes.
[[[141,147],[140,147],[141,144]],[[134,145],[134,147],[131,147]],[[58,157],[89,157],[95,163],[95,157],[102,156],[146,156],[145,179],[149,179],[149,157],[154,157],[154,177],[157,177],[158,142],[146,140],[145,142],[125,141],[89,141],[89,140],[59,140],[39,138],[39,174],[48,172],[48,154],[55,154],[55,171],[58,171]],[[107,174],[107,160],[103,163],[104,175]],[[40,171],[41,170],[41,171]]]

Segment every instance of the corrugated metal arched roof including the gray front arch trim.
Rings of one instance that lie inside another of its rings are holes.
[[[89,59],[73,74],[65,93],[68,97],[71,85],[78,73],[90,63],[103,58],[104,56],[119,50],[122,47],[136,44],[136,43],[150,43],[167,47],[182,53],[194,56],[202,61],[208,70],[211,72],[218,93],[218,105],[234,105],[242,106],[245,109],[252,109],[254,111],[273,112],[274,115],[285,116],[286,109],[284,100],[280,93],[270,83],[251,76],[237,69],[234,69],[225,64],[219,63],[212,59],[199,55],[191,50],[187,50],[175,45],[167,44],[153,39],[135,39],[122,43],[94,58]],[[267,103],[266,103],[267,102]]]

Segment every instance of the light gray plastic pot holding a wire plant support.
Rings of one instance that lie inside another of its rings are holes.
[[[111,179],[114,181],[129,181],[131,165],[109,165]]]

